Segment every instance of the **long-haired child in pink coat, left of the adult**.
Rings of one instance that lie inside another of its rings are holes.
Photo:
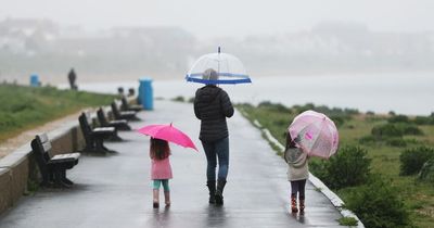
[[[152,160],[153,207],[159,207],[159,186],[163,183],[166,206],[170,206],[169,179],[171,179],[170,148],[166,140],[151,137],[150,156]]]

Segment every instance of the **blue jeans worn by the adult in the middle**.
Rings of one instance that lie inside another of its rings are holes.
[[[205,150],[206,161],[206,177],[208,181],[216,181],[216,167],[218,159],[218,179],[226,180],[229,168],[229,137],[215,142],[202,141],[202,147]]]

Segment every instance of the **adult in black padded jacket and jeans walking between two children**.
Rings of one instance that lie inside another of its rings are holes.
[[[215,85],[218,79],[216,71],[206,69],[203,78],[209,80],[210,84],[197,89],[194,99],[194,114],[201,119],[199,139],[202,141],[207,160],[206,186],[209,190],[209,203],[221,205],[229,168],[229,132],[226,118],[233,115],[233,106],[228,93]]]

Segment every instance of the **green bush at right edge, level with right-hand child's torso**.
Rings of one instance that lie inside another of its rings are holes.
[[[420,147],[405,150],[400,155],[400,175],[412,175],[420,172],[423,164],[434,157],[434,149]]]

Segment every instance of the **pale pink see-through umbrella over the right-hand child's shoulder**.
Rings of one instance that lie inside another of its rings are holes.
[[[336,153],[336,126],[322,113],[305,111],[295,116],[288,130],[291,138],[310,156],[329,159]]]

